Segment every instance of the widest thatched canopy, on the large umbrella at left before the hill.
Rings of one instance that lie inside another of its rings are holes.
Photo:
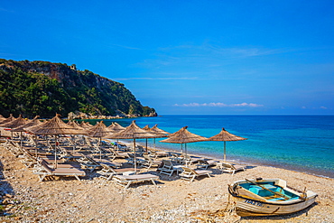
[[[59,115],[52,117],[51,120],[41,125],[33,125],[24,128],[26,131],[35,135],[84,135],[85,132],[64,123]]]

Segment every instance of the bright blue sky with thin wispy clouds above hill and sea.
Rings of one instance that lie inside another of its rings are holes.
[[[2,1],[0,58],[76,64],[158,114],[334,114],[334,1]]]

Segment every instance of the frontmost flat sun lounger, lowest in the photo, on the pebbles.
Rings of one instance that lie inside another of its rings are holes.
[[[122,185],[127,189],[131,183],[134,182],[141,182],[141,181],[152,181],[153,184],[156,186],[155,181],[159,180],[159,176],[146,173],[146,174],[135,174],[135,175],[115,175],[113,180],[116,183]]]

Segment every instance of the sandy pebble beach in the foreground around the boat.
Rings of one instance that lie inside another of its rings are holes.
[[[333,222],[334,179],[268,166],[246,165],[231,175],[216,167],[211,178],[193,182],[175,174],[141,170],[159,176],[129,189],[91,172],[77,181],[55,177],[40,182],[20,159],[0,146],[1,222]],[[227,184],[242,179],[281,178],[288,185],[318,193],[308,209],[277,217],[239,217],[229,204]],[[228,210],[228,211],[227,211]]]

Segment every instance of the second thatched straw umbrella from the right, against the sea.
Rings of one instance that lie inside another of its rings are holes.
[[[182,127],[179,131],[168,135],[168,138],[160,141],[162,143],[170,143],[170,144],[185,144],[185,153],[187,154],[187,144],[188,143],[195,143],[195,142],[202,142],[202,141],[207,141],[208,138],[192,134],[190,131],[187,130],[188,126]]]

